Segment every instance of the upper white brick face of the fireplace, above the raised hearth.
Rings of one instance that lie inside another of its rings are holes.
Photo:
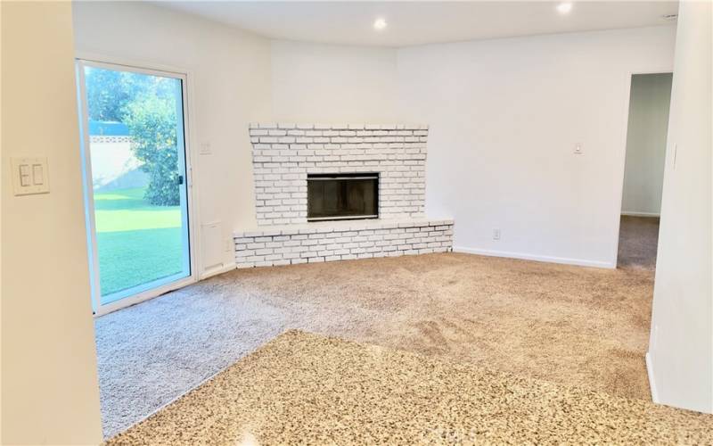
[[[308,173],[379,172],[379,216],[421,217],[426,126],[250,126],[258,225],[307,222]]]

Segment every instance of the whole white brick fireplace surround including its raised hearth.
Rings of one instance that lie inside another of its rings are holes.
[[[258,227],[238,268],[447,252],[453,220],[424,215],[428,127],[251,124]],[[307,174],[379,173],[379,219],[307,222]]]

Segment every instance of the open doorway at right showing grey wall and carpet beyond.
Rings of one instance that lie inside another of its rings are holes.
[[[656,268],[672,77],[631,77],[618,268]]]

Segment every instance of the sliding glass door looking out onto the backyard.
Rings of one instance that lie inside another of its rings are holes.
[[[78,61],[94,312],[193,280],[183,75]]]

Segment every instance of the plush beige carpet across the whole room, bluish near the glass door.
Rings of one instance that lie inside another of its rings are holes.
[[[649,400],[653,264],[624,250],[616,270],[456,253],[235,270],[95,320],[104,434],[291,328]]]

